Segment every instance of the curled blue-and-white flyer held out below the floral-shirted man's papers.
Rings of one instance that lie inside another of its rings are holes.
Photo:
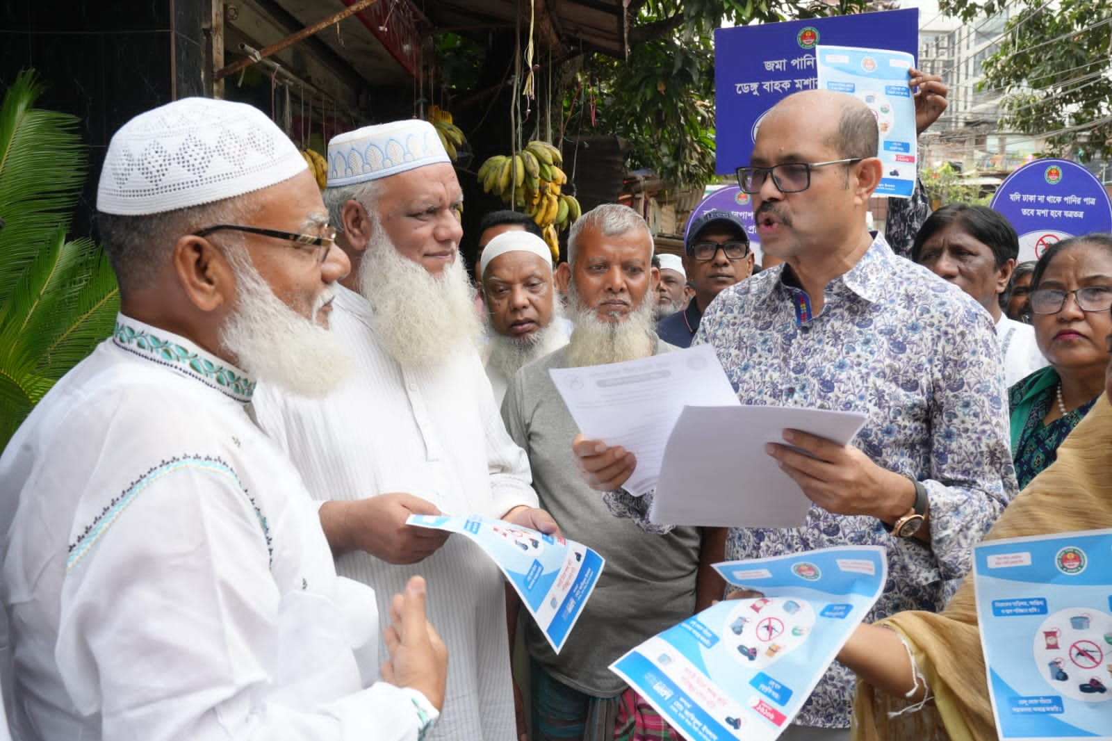
[[[881,595],[884,549],[823,549],[715,569],[763,596],[719,602],[636,646],[610,671],[688,741],[771,741]]]

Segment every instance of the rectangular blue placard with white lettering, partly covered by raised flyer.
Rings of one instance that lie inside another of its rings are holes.
[[[761,118],[782,99],[817,87],[815,47],[919,49],[919,10],[887,10],[714,32],[716,171],[748,165]]]

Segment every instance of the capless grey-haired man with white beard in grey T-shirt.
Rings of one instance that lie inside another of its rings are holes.
[[[676,349],[653,332],[652,257],[653,237],[635,210],[606,204],[584,214],[568,236],[568,261],[556,274],[574,312],[570,343],[515,375],[502,407],[510,435],[529,454],[540,503],[567,537],[606,556],[598,586],[559,654],[526,623],[533,741],[675,738],[664,734],[659,715],[608,666],[629,646],[691,618],[697,604],[709,606],[722,596],[723,584],[708,567],[721,560],[722,533],[705,539],[697,527],[676,527],[651,535],[610,516],[576,468],[568,443],[578,428],[548,374]]]

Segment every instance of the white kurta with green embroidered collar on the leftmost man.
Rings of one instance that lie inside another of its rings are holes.
[[[14,738],[418,738],[419,695],[371,684],[374,595],[337,577],[252,388],[120,316],[8,445]]]

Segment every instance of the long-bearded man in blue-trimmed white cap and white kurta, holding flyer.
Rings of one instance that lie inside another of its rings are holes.
[[[429,615],[451,652],[429,738],[514,739],[502,573],[466,539],[405,524],[411,513],[477,513],[556,532],[479,360],[459,184],[419,120],[337,136],[328,162],[325,202],[353,264],[332,327],[357,373],[322,399],[265,385],[257,418],[324,502],[341,574],[380,593],[428,576]]]

